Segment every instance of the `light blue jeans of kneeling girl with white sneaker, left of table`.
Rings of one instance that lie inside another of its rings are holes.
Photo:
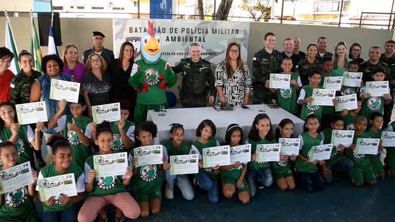
[[[169,168],[164,171],[164,177],[166,178],[166,186],[173,187],[176,184],[186,200],[194,199],[195,192],[191,182],[188,180],[188,175],[170,175]]]

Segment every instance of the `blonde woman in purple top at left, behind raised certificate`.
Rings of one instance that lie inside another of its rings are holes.
[[[85,64],[79,62],[78,48],[74,44],[67,44],[63,50],[62,61],[64,64],[63,73],[73,75],[78,82],[85,74]]]

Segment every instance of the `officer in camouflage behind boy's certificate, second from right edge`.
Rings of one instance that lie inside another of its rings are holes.
[[[382,66],[386,70],[386,77],[384,81],[391,82],[391,72],[390,68],[386,63],[380,61],[381,56],[381,49],[378,46],[372,46],[369,49],[369,59],[358,66],[358,72],[362,72],[362,81],[364,83],[374,81],[372,77],[372,70],[377,66]],[[390,87],[391,88],[391,87]],[[390,90],[390,94],[392,95],[394,91],[393,89]],[[392,114],[392,107],[394,107],[394,102],[389,103],[388,105],[384,106],[384,118],[383,118],[383,127],[387,126],[388,123],[391,121],[391,114]]]

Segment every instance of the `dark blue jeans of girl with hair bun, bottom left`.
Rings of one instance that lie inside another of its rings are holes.
[[[61,211],[42,212],[42,222],[78,222],[80,206],[74,206]]]

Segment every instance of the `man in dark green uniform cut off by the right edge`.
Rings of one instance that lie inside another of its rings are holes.
[[[384,44],[385,53],[381,54],[380,61],[387,64],[390,69],[390,73],[387,75],[391,76],[390,82],[390,94],[393,100],[390,104],[384,106],[384,120],[383,120],[383,127],[385,129],[388,126],[388,123],[391,122],[391,114],[394,108],[394,98],[395,98],[395,41],[388,40]]]

